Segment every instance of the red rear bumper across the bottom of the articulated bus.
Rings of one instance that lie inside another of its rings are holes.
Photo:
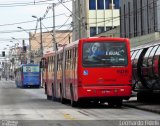
[[[79,87],[78,99],[85,98],[99,98],[109,99],[112,97],[119,97],[122,99],[129,99],[132,94],[131,86],[103,86],[103,87]]]

